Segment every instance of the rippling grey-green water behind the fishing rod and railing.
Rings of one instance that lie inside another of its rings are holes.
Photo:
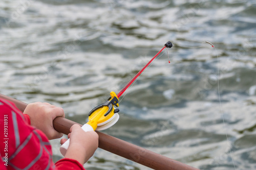
[[[83,124],[170,40],[171,63],[144,72],[104,132],[201,169],[256,169],[255,4],[1,1],[0,92]],[[85,167],[148,169],[100,149]]]

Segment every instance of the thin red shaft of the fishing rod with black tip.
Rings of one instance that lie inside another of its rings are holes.
[[[123,89],[117,94],[117,97],[119,98],[123,92],[136,80],[140,74],[144,71],[144,69],[150,65],[150,63],[164,50],[164,48],[171,48],[173,46],[172,42],[168,41],[164,44],[164,47],[150,60],[148,63],[137,73],[137,75],[134,76],[132,80],[130,80],[129,83],[126,84],[126,86],[123,87]],[[169,61],[170,62],[170,61]]]

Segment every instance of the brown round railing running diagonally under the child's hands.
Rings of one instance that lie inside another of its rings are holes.
[[[24,102],[10,98],[9,96],[3,95],[3,94],[0,94],[0,98],[13,102],[17,106],[17,108],[22,112],[24,112],[25,108],[28,105]],[[66,135],[70,133],[70,127],[74,124],[78,124],[78,123],[63,117],[56,117],[53,120],[54,129]],[[78,125],[82,126],[81,124],[78,124]],[[99,148],[105,151],[109,151],[113,154],[119,155],[121,157],[124,157],[126,159],[130,159],[134,162],[145,165],[147,167],[150,167],[153,169],[161,169],[161,170],[167,170],[167,169],[196,170],[197,169],[195,167],[191,167],[179,161],[167,158],[163,155],[138,147],[135,144],[126,142],[116,137],[104,134],[102,132],[97,132],[97,133],[99,135]]]

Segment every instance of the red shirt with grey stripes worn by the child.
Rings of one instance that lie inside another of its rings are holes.
[[[29,115],[0,99],[0,169],[84,169],[76,160],[63,158],[55,164],[47,136],[30,125]]]

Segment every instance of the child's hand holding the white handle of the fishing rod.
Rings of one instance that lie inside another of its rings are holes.
[[[69,148],[65,158],[75,159],[81,164],[87,162],[98,148],[99,136],[95,131],[84,132],[82,128],[75,124],[70,128]],[[63,144],[67,139],[61,139]]]

